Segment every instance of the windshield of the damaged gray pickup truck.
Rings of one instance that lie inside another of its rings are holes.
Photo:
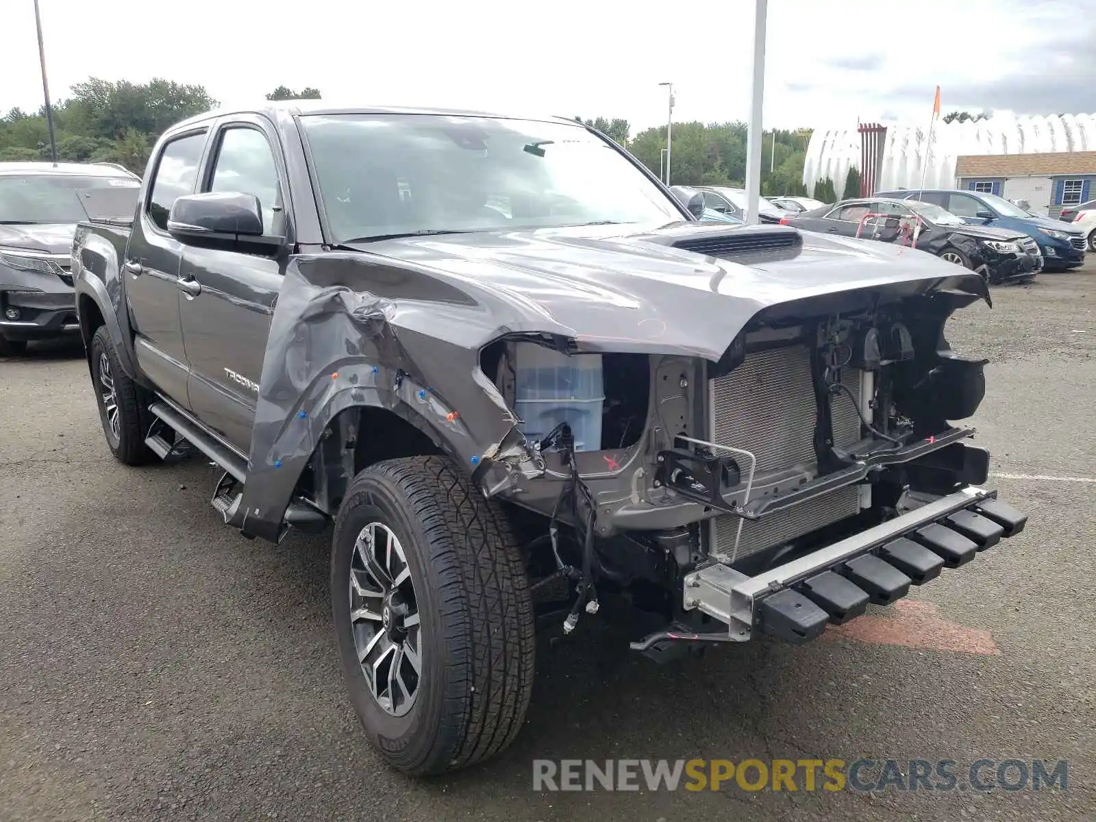
[[[334,242],[687,219],[580,126],[444,115],[300,118]]]

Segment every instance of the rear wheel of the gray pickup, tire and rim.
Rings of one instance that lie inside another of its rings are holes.
[[[111,454],[125,465],[145,465],[156,458],[156,454],[145,445],[146,398],[145,392],[122,370],[118,352],[105,326],[100,326],[91,338],[91,381],[99,407],[99,419],[106,435]],[[104,374],[106,380],[104,380]],[[107,385],[113,387],[117,410],[116,431],[107,414]]]

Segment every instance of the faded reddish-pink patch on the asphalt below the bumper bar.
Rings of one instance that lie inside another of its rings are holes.
[[[940,617],[935,605],[921,600],[899,600],[887,616],[866,614],[845,625],[831,625],[822,636],[866,644],[1001,655],[990,631],[949,623]]]

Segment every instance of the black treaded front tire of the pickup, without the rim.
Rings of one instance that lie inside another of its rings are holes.
[[[421,675],[403,716],[374,696],[351,617],[356,543],[376,524],[402,546],[418,602]],[[449,459],[388,459],[354,478],[335,518],[331,596],[351,700],[388,763],[412,775],[438,774],[513,742],[533,692],[528,580],[505,514]]]

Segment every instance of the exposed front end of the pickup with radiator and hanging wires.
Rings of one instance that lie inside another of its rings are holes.
[[[506,499],[548,518],[535,586],[575,583],[564,629],[596,609],[595,580],[673,618],[666,591],[697,568],[764,572],[900,515],[910,494],[984,481],[987,456],[954,423],[977,410],[986,361],[944,335],[973,299],[762,312],[718,363],[548,339],[484,349],[546,466]]]

